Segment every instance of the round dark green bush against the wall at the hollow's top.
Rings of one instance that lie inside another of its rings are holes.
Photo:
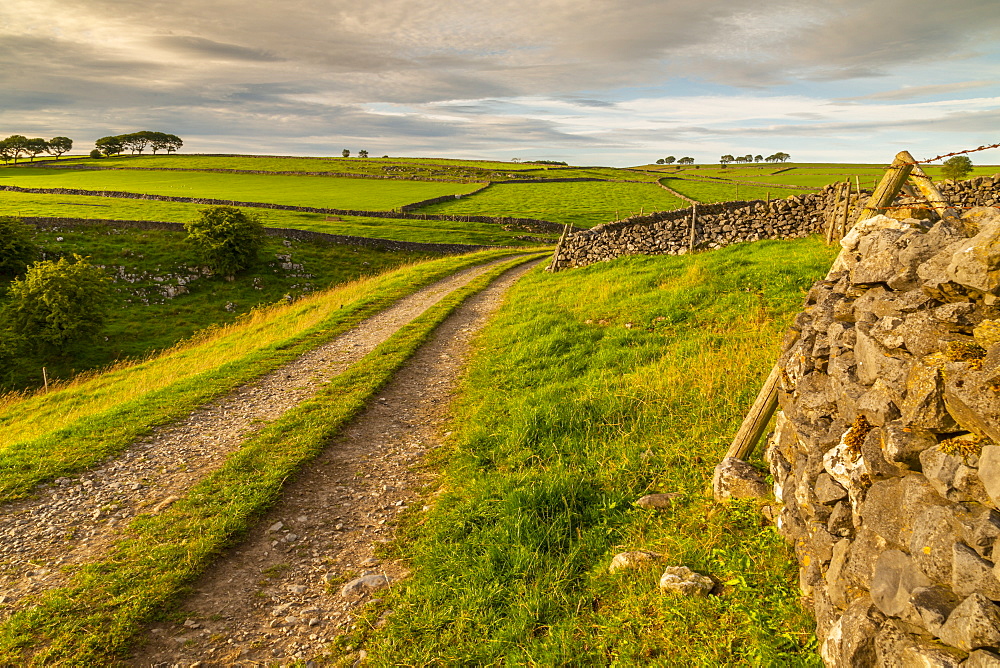
[[[264,246],[258,214],[234,206],[210,206],[198,214],[197,220],[184,223],[184,229],[212,271],[232,276],[256,262]]]

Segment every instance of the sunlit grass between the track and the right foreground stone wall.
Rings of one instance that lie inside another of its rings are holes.
[[[709,487],[831,260],[810,238],[519,281],[477,342],[440,494],[395,548],[414,576],[375,606],[383,631],[343,644],[384,666],[820,665],[790,551]],[[637,508],[650,492],[677,497]],[[660,568],[608,573],[637,549]],[[661,594],[682,564],[723,593]]]

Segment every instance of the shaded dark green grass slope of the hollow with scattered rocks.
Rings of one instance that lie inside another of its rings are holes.
[[[202,275],[202,263],[185,242],[186,236],[185,232],[103,225],[38,230],[35,241],[45,258],[76,253],[106,268],[105,273],[115,280],[111,311],[93,343],[59,358],[10,360],[0,372],[0,390],[40,386],[42,366],[54,379],[120,359],[144,357],[199,329],[233,322],[240,314],[286,295],[298,299],[332,285],[440,257],[428,252],[268,238],[261,261],[230,282]],[[293,268],[285,268],[288,262]],[[178,289],[179,283],[186,292],[168,298],[165,290]],[[3,302],[0,296],[0,306]]]

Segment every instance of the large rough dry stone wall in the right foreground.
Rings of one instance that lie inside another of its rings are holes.
[[[766,459],[828,666],[1000,666],[998,185],[861,223],[787,335]]]

